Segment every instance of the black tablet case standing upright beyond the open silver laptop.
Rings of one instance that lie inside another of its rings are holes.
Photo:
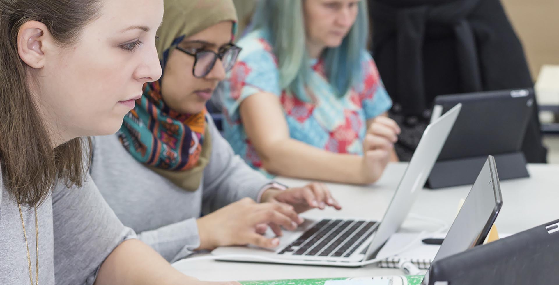
[[[445,113],[457,103],[462,110],[429,178],[432,189],[472,184],[487,155],[495,156],[501,181],[529,177],[521,151],[528,126],[533,89],[438,96]]]

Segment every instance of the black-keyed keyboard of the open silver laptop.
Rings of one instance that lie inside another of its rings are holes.
[[[349,257],[373,234],[377,222],[321,220],[278,254]]]

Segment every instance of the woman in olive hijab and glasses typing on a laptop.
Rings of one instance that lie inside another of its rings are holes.
[[[273,248],[268,226],[281,235],[300,212],[339,209],[322,184],[286,189],[248,167],[207,114],[240,51],[233,2],[168,0],[164,9],[162,78],[144,85],[117,135],[94,140],[91,174],[120,220],[173,262],[223,245]]]

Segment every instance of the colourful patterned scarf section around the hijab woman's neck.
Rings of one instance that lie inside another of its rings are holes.
[[[193,115],[170,110],[159,82],[146,83],[136,107],[124,117],[119,139],[138,162],[177,186],[195,191],[211,154],[206,120],[206,110]]]

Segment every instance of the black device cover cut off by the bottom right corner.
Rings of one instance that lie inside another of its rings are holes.
[[[440,259],[429,269],[429,285],[559,284],[559,231],[547,230],[557,223]]]

